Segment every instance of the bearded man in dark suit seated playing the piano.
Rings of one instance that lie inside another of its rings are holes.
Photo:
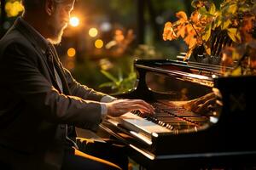
[[[107,115],[154,108],[87,88],[61,65],[52,44],[61,42],[74,0],[22,3],[24,14],[0,41],[0,162],[11,169],[119,169],[77,150],[70,127],[96,131]]]

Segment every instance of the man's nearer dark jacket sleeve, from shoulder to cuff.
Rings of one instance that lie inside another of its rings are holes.
[[[101,104],[59,94],[38,70],[38,56],[22,44],[10,44],[0,55],[1,83],[49,122],[84,124],[96,128],[101,120]],[[90,92],[87,93],[90,96]]]

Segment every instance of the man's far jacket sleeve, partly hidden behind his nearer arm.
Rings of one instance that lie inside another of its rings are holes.
[[[82,99],[90,99],[95,101],[101,101],[102,97],[107,95],[96,92],[94,89],[80,84],[72,77],[71,73],[66,68],[63,68],[63,71],[72,95],[78,96]]]

